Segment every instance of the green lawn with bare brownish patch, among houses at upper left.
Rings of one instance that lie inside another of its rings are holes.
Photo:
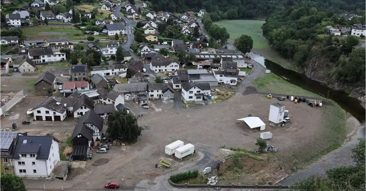
[[[81,30],[68,26],[22,27],[26,40],[66,37],[71,40],[86,39]]]

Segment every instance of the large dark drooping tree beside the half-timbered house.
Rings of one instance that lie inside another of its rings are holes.
[[[138,126],[137,117],[126,109],[109,114],[105,123],[108,126],[106,133],[113,140],[133,143],[141,136],[142,127]]]

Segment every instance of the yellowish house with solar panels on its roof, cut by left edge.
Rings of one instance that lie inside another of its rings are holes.
[[[15,143],[18,136],[27,135],[25,132],[0,131],[0,173],[14,172],[14,164],[12,157],[15,151]]]

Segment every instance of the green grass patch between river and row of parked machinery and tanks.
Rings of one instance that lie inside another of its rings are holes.
[[[253,85],[259,92],[281,93],[288,95],[322,98],[320,95],[306,91],[305,89],[291,84],[283,78],[276,76],[272,73],[255,79],[253,81]]]

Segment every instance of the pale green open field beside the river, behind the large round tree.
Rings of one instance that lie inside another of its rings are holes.
[[[262,33],[263,23],[263,20],[221,20],[214,24],[226,28],[230,34],[230,43],[234,43],[235,38],[240,35],[246,34],[253,38],[253,49],[262,49],[269,46],[264,37],[258,36],[258,33]]]

